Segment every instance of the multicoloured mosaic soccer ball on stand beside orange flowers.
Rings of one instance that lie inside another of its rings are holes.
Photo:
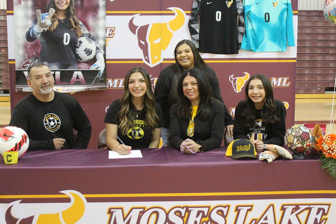
[[[311,131],[303,125],[294,125],[285,133],[285,145],[292,152],[307,151],[313,143]]]

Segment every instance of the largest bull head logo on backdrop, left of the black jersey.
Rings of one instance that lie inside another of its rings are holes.
[[[174,33],[179,30],[185,21],[185,13],[180,8],[168,8],[175,12],[172,20],[165,23],[152,23],[137,26],[134,24],[134,18],[140,14],[134,15],[128,23],[129,30],[138,38],[138,45],[142,50],[143,61],[151,67],[163,61],[162,51],[164,51]]]

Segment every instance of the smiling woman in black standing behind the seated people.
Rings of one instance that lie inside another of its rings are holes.
[[[159,103],[163,111],[164,125],[161,131],[163,144],[167,144],[170,124],[170,107],[178,102],[177,84],[181,74],[186,69],[197,68],[207,77],[213,97],[223,102],[220,94],[219,82],[216,73],[202,59],[195,44],[190,40],[180,41],[174,50],[175,64],[169,65],[162,70],[155,85],[155,102]],[[233,118],[229,114],[225,104],[225,126],[230,137],[233,136]]]

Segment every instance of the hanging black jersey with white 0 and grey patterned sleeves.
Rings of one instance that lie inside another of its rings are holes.
[[[244,14],[241,0],[194,0],[188,24],[194,43],[198,41],[198,23],[199,52],[238,54],[244,34]]]

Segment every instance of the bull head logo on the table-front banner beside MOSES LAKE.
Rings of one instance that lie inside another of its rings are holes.
[[[27,218],[16,218],[12,215],[12,209],[15,205],[19,204],[21,200],[14,201],[5,215],[7,224],[52,224],[52,223],[62,223],[62,224],[74,224],[78,222],[85,211],[85,197],[74,190],[64,190],[61,193],[67,194],[71,198],[71,206],[64,210],[57,212],[55,214],[35,214]],[[40,204],[41,205],[41,204]]]

